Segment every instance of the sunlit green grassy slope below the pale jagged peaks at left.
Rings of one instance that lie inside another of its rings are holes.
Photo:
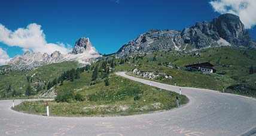
[[[38,67],[29,72],[12,71],[0,75],[0,98],[1,97],[25,97],[25,91],[28,85],[31,85],[35,94],[45,91],[48,81],[52,81],[61,73],[72,68],[77,68],[76,62],[63,62],[48,64],[47,66]],[[10,92],[8,87],[11,86]],[[13,92],[16,95],[13,95]]]

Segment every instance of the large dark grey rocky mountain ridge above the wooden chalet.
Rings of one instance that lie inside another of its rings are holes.
[[[181,32],[177,30],[150,30],[117,51],[117,57],[159,50],[195,51],[202,48],[231,46],[254,48],[248,30],[238,16],[223,14],[212,21],[196,23]]]

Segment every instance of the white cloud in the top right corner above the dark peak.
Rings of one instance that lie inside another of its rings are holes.
[[[231,13],[239,16],[246,29],[251,29],[256,24],[255,0],[214,0],[210,4],[220,14]]]

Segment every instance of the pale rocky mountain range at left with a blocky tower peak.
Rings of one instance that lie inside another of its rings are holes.
[[[26,51],[23,55],[17,55],[8,62],[11,69],[31,70],[44,64],[60,63],[63,61],[78,61],[81,64],[90,64],[100,54],[92,46],[89,38],[80,38],[75,42],[75,47],[69,54],[61,54],[54,51],[52,54]]]

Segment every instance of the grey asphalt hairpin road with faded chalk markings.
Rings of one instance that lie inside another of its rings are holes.
[[[179,92],[179,87],[127,76],[124,78]],[[108,118],[62,118],[28,115],[0,101],[0,135],[254,135],[256,101],[196,88],[182,88],[190,102],[178,109],[146,115]],[[16,101],[16,104],[21,100]]]

